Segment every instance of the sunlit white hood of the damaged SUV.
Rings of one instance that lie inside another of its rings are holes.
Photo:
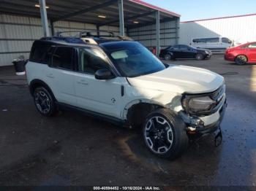
[[[134,87],[175,93],[209,93],[224,82],[219,74],[190,66],[169,66],[165,70],[128,77],[127,80]]]

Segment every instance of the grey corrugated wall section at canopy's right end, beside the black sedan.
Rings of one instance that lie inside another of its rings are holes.
[[[178,40],[179,20],[160,23],[160,47],[168,47],[176,44]],[[128,35],[139,41],[145,47],[152,48],[156,46],[156,25],[142,26],[129,29]]]

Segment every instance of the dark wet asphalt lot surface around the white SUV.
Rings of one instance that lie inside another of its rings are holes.
[[[214,55],[168,63],[222,74],[227,84],[223,141],[189,144],[174,161],[146,149],[141,130],[77,112],[42,117],[25,77],[0,68],[0,185],[256,185],[256,66]],[[209,139],[210,138],[210,139]]]

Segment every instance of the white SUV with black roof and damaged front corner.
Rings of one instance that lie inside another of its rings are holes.
[[[178,157],[189,139],[219,130],[226,107],[219,74],[165,65],[140,43],[121,38],[37,40],[26,75],[40,114],[69,107],[142,127],[146,146],[160,157]]]

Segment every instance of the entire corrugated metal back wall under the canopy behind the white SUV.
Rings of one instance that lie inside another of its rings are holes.
[[[50,24],[50,21],[48,21]],[[160,46],[167,47],[176,44],[178,40],[179,20],[160,24]],[[97,27],[88,23],[58,21],[54,23],[54,31],[95,30]],[[118,27],[102,26],[100,30],[112,31],[118,34]],[[50,30],[50,28],[49,28]],[[72,33],[70,33],[72,35]],[[156,46],[156,26],[142,26],[129,30],[129,36],[141,42],[144,46]],[[12,60],[24,55],[29,58],[29,52],[34,40],[43,36],[41,20],[38,17],[0,14],[0,66],[12,65]]]

